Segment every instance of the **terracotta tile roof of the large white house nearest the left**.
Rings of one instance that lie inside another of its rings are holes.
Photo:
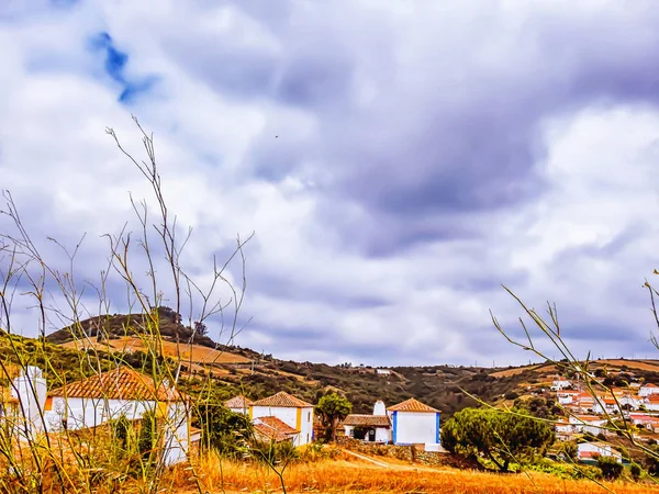
[[[102,374],[76,381],[66,386],[53,390],[48,396],[89,397],[105,400],[134,401],[186,401],[188,396],[174,386],[160,383],[156,390],[150,375],[134,371],[127,367],[119,367]]]

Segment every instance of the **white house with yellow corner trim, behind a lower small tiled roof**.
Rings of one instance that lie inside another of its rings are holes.
[[[294,446],[308,445],[313,440],[313,405],[280,391],[272,396],[258,400],[249,406],[249,418],[276,417],[292,427]],[[256,424],[256,422],[255,422]]]

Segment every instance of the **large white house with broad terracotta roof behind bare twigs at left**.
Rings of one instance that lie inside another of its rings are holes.
[[[156,414],[161,424],[165,464],[185,461],[199,434],[191,434],[189,398],[166,380],[154,379],[126,367],[119,367],[48,393],[44,418],[48,431],[97,427],[122,415],[129,420],[145,412]]]

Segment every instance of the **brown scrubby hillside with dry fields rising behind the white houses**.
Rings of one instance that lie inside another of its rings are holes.
[[[512,404],[517,397],[538,395],[543,389],[548,391],[551,375],[557,373],[555,364],[537,363],[507,369],[393,367],[389,375],[383,375],[371,367],[284,361],[245,348],[217,345],[176,322],[172,311],[163,308],[160,348],[172,361],[181,361],[183,386],[191,393],[200,388],[202,378],[211,377],[216,392],[226,396],[239,391],[250,398],[260,398],[287,391],[315,403],[328,391],[340,391],[354,404],[356,413],[369,413],[376,400],[394,404],[414,396],[449,417],[476,404],[469,395],[495,404]],[[119,355],[129,363],[144,361],[148,335],[141,329],[144,327],[141,316],[96,317],[83,321],[80,327],[85,338],[74,338],[71,329],[64,328],[48,335],[47,340],[68,351],[92,347],[101,355],[115,358]],[[602,360],[591,362],[591,368],[629,371],[636,378],[659,384],[659,361]]]

